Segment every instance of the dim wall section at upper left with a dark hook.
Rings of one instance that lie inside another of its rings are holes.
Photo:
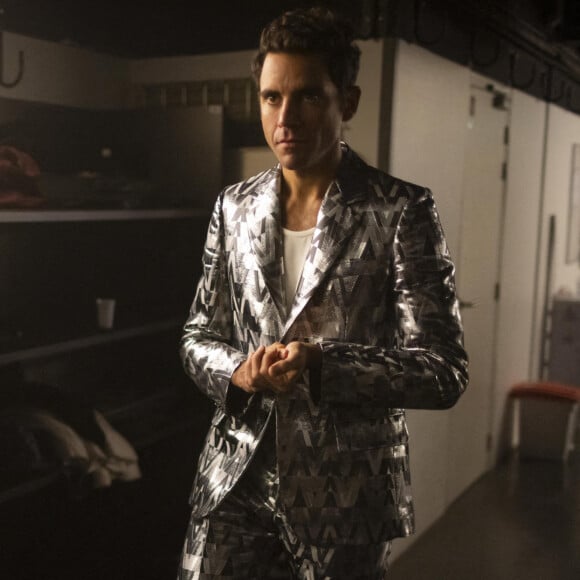
[[[0,96],[89,109],[127,105],[128,61],[64,44],[4,33],[4,79],[16,77],[18,51],[24,53],[24,76]]]

